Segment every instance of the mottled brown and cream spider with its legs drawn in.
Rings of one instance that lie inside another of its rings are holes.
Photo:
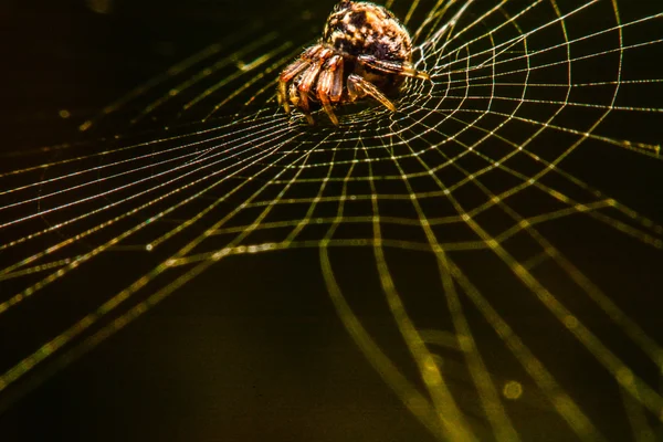
[[[311,102],[319,102],[337,126],[333,105],[365,96],[396,112],[383,92],[396,90],[406,76],[430,78],[411,60],[410,34],[393,13],[375,3],[344,0],[327,18],[318,43],[281,73],[278,103],[288,114],[291,105],[301,109],[311,125]]]

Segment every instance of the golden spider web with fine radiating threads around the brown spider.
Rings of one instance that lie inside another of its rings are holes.
[[[328,8],[304,10],[6,152],[0,409],[196,281],[269,297],[277,265],[435,440],[661,438],[663,10],[633,3],[389,2],[432,81],[338,128],[274,99]]]

